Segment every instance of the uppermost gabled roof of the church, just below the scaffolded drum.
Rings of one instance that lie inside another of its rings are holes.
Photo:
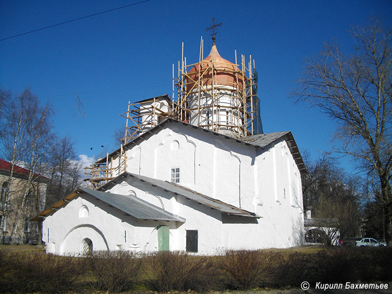
[[[298,150],[298,147],[297,147],[297,145],[295,143],[293,134],[290,131],[268,133],[268,134],[258,134],[258,135],[248,136],[248,137],[243,138],[243,139],[240,140],[240,139],[229,137],[229,136],[226,136],[226,135],[223,135],[223,134],[211,131],[211,130],[207,130],[205,128],[202,128],[202,127],[199,127],[199,126],[196,126],[196,125],[193,125],[193,124],[184,123],[184,122],[180,122],[180,121],[168,118],[165,121],[163,121],[162,123],[159,123],[156,126],[148,129],[146,132],[144,132],[140,136],[138,136],[135,139],[133,139],[132,141],[128,142],[124,147],[125,148],[130,148],[132,145],[135,145],[135,144],[138,144],[141,141],[147,140],[147,138],[149,136],[159,132],[161,129],[163,129],[169,123],[182,124],[182,125],[185,125],[187,127],[199,129],[200,131],[204,131],[204,132],[207,132],[207,133],[214,134],[215,136],[221,137],[223,139],[234,140],[237,143],[244,144],[246,146],[253,146],[253,147],[256,147],[256,148],[260,148],[260,149],[264,149],[265,147],[267,147],[271,143],[275,142],[276,140],[279,140],[279,139],[283,138],[283,139],[285,139],[287,141],[287,144],[289,145],[289,148],[290,148],[290,151],[293,154],[295,163],[298,166],[298,170],[300,172],[307,173],[305,164],[304,164],[304,162],[302,160],[301,154],[299,153],[299,150]],[[120,155],[120,150],[121,150],[121,148],[118,148],[117,150],[115,150],[112,153],[110,153],[109,156]],[[97,160],[96,163],[104,163],[105,161],[106,161],[106,158],[101,158],[101,159]]]

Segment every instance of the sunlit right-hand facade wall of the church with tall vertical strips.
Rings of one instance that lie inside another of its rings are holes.
[[[257,156],[260,180],[256,213],[264,218],[263,247],[303,244],[304,223],[299,170],[286,142],[281,140]],[[282,152],[283,151],[283,152]],[[286,191],[286,198],[284,196]]]

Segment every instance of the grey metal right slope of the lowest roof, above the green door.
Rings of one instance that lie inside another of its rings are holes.
[[[137,219],[185,222],[185,219],[173,215],[136,196],[107,193],[86,188],[80,188],[80,190]]]

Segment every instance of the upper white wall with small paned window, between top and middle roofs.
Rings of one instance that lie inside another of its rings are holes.
[[[171,169],[179,167],[180,185],[235,206],[241,197],[241,207],[253,209],[254,147],[178,123],[131,146],[127,156],[129,172],[170,181]]]

